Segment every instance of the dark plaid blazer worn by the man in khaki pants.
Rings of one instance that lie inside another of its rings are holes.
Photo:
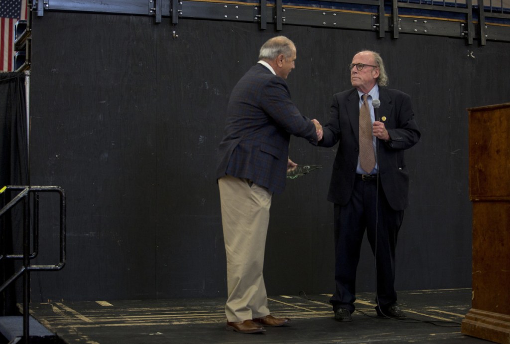
[[[292,103],[285,80],[257,63],[232,90],[216,178],[246,178],[282,192],[291,134],[317,145],[315,125]]]

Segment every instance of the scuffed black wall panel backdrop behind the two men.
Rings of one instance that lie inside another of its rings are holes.
[[[33,274],[33,301],[226,295],[216,149],[229,92],[277,34],[297,46],[293,100],[321,121],[331,95],[350,87],[352,55],[381,53],[390,87],[411,94],[422,130],[407,152],[411,205],[397,290],[470,287],[466,108],[508,102],[510,44],[46,12],[34,17],[32,33],[31,180],[67,193],[68,261],[60,272]],[[323,168],[273,198],[269,294],[333,290],[333,206],[325,196],[334,156],[335,148],[291,140],[295,162]],[[52,223],[58,211],[43,209],[41,221]],[[54,230],[41,228],[40,263],[54,258]],[[365,243],[359,291],[374,289],[373,266]]]

